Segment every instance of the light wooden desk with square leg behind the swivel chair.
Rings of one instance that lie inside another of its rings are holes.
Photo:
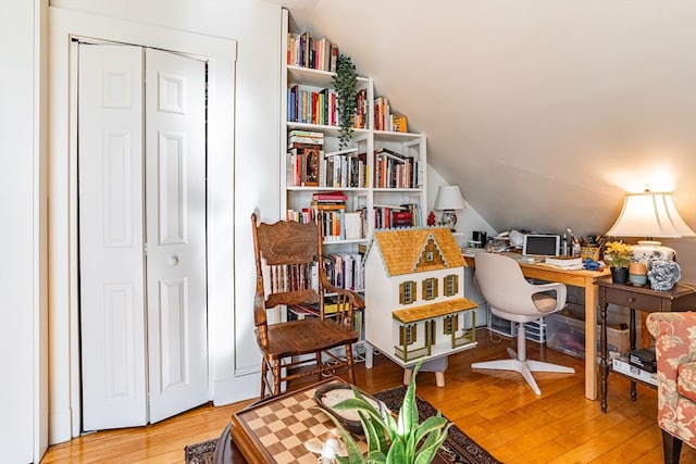
[[[505,253],[511,258],[520,258],[520,253]],[[464,256],[467,265],[474,268],[473,256]],[[601,271],[568,271],[547,264],[519,262],[522,274],[529,278],[547,281],[560,281],[572,287],[581,287],[585,291],[585,398],[597,399],[597,279],[610,275],[609,268]]]

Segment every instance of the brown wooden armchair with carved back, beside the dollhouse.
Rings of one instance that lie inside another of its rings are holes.
[[[353,311],[364,308],[355,291],[334,287],[322,263],[321,227],[278,221],[259,223],[251,215],[257,268],[253,321],[263,354],[261,399],[281,393],[281,385],[301,377],[333,375],[348,369],[355,384],[352,343]],[[326,293],[335,294],[337,310],[324,315]],[[316,316],[269,324],[268,312],[276,309],[311,308]],[[343,347],[345,353],[336,353]],[[313,356],[311,356],[313,354]]]

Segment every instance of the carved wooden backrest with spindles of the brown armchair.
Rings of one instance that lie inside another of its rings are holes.
[[[265,309],[279,304],[315,304],[323,314],[322,237],[318,224],[278,221],[259,223],[251,215],[257,268],[257,292]],[[262,313],[262,314],[261,314]],[[254,312],[254,325],[266,324],[265,312]]]

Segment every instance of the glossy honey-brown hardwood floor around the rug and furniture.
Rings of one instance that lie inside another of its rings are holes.
[[[473,371],[472,362],[502,359],[512,342],[477,330],[478,346],[450,356],[446,385],[432,373],[418,375],[418,394],[427,400],[478,444],[507,464],[662,462],[656,423],[657,391],[638,386],[631,401],[630,384],[609,376],[607,413],[599,401],[584,397],[584,363],[527,341],[527,356],[575,368],[574,375],[535,374],[542,396],[535,396],[514,373]],[[357,384],[366,392],[400,385],[402,371],[384,356],[375,366],[359,364]],[[147,427],[99,431],[49,448],[42,463],[182,463],[184,447],[217,438],[231,414],[252,402],[214,407],[203,405]],[[696,462],[696,450],[684,446],[682,463]]]

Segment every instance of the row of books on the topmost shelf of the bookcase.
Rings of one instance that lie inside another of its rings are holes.
[[[336,72],[338,46],[325,37],[316,39],[310,33],[287,35],[287,64],[312,70]]]

